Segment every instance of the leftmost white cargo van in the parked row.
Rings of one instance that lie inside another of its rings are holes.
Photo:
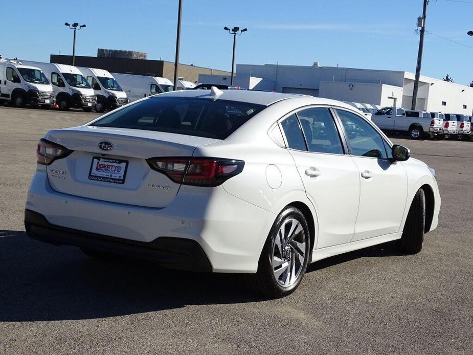
[[[30,104],[49,108],[54,105],[54,91],[46,75],[36,66],[0,59],[0,102],[17,107]]]

